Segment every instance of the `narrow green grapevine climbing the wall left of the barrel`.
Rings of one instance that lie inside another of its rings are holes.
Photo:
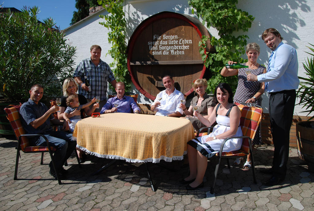
[[[108,41],[112,44],[108,53],[113,58],[113,62],[110,64],[112,72],[114,73],[117,81],[123,81],[125,83],[126,90],[131,87],[131,77],[127,70],[127,45],[125,41],[125,27],[126,20],[123,11],[123,1],[110,1],[110,0],[98,0],[98,3],[106,8],[108,15],[100,15],[106,21],[100,22],[111,31],[108,32]],[[111,85],[110,85],[111,86]]]

